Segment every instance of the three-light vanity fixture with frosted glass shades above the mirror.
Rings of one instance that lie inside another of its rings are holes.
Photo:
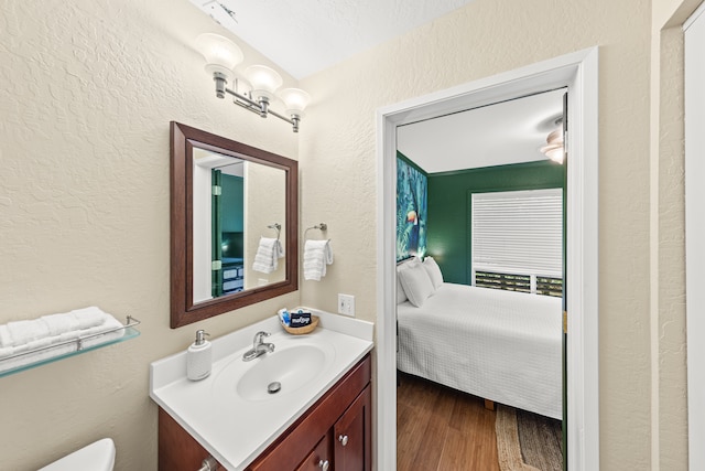
[[[299,88],[281,90],[279,98],[284,101],[289,117],[281,115],[270,108],[282,85],[282,77],[276,71],[264,65],[251,65],[245,69],[243,77],[238,78],[234,68],[242,62],[243,55],[232,41],[219,34],[204,33],[196,39],[196,46],[206,60],[206,72],[213,75],[216,83],[218,98],[225,98],[226,94],[232,95],[236,105],[257,113],[262,118],[273,115],[292,125],[293,131],[299,132],[303,111],[311,103],[311,96],[306,92]],[[235,89],[227,87],[229,81],[235,82]],[[249,85],[250,89],[238,90],[238,85],[243,85],[243,88]]]

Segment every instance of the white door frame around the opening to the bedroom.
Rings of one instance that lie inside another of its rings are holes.
[[[599,469],[598,47],[481,78],[377,111],[376,469],[397,469],[397,127],[567,87],[568,469]]]

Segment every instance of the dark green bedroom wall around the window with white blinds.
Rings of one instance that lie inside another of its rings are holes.
[[[470,283],[470,194],[563,188],[564,165],[552,161],[429,174],[427,255],[447,282]]]

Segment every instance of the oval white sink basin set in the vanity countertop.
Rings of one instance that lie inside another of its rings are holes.
[[[335,349],[329,343],[286,336],[268,340],[274,343],[274,352],[250,362],[236,355],[218,372],[213,384],[216,397],[229,402],[283,398],[314,382],[335,360]]]

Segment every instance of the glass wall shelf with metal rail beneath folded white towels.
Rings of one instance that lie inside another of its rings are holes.
[[[30,370],[36,366],[45,365],[47,363],[56,362],[58,360],[64,360],[70,356],[80,355],[83,353],[90,352],[93,350],[101,349],[104,346],[108,346],[116,343],[128,341],[130,339],[134,339],[135,336],[140,335],[140,331],[134,329],[134,325],[138,325],[140,321],[128,315],[127,324],[123,328],[120,328],[124,330],[124,333],[118,338],[109,339],[100,343],[90,342],[91,340],[96,340],[96,341],[99,340],[98,338],[101,335],[106,335],[110,332],[113,332],[113,331],[106,331],[95,335],[88,335],[88,336],[72,340],[68,342],[57,343],[55,345],[48,345],[43,349],[39,349],[36,351],[23,352],[18,355],[0,358],[0,377],[8,376],[14,373],[20,373],[25,370]],[[115,331],[120,329],[116,329]],[[32,358],[33,356],[36,356],[36,358],[30,361],[30,358]],[[15,364],[17,366],[8,367],[11,364]]]

